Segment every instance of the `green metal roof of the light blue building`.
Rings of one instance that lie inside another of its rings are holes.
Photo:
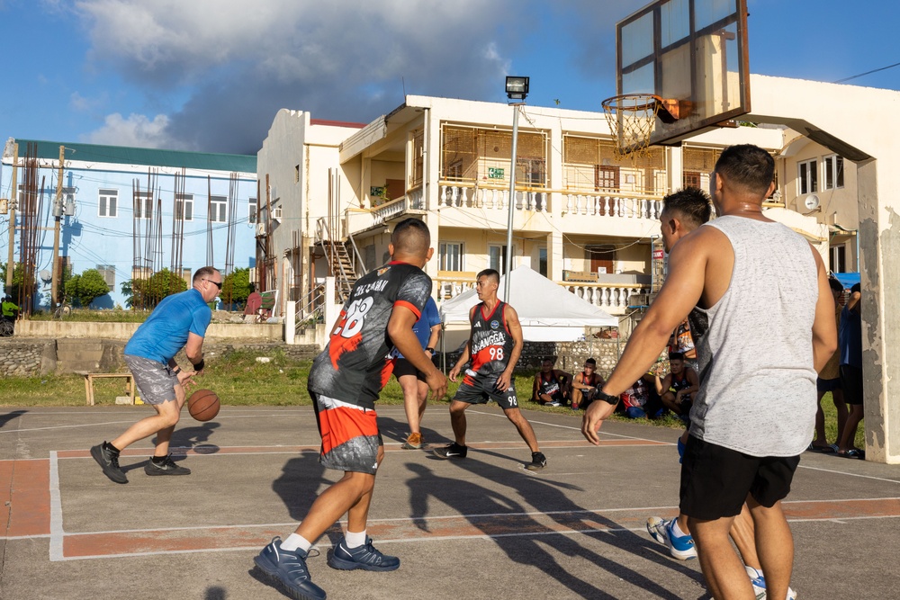
[[[243,154],[212,154],[206,152],[184,152],[183,150],[160,150],[157,148],[129,148],[127,146],[100,146],[98,144],[78,144],[54,142],[40,139],[16,139],[19,157],[25,156],[29,142],[38,145],[38,158],[57,160],[59,147],[66,147],[66,160],[88,163],[114,163],[119,165],[173,166],[207,171],[238,173],[257,172],[257,157]]]

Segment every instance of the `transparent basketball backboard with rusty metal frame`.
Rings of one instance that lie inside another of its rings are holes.
[[[659,100],[650,144],[750,112],[746,0],[655,0],[617,23],[616,42],[617,94]]]

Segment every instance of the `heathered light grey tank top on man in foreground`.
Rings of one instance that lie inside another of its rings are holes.
[[[780,223],[720,217],[734,250],[725,295],[703,310],[690,434],[752,456],[795,456],[815,425],[813,250]]]

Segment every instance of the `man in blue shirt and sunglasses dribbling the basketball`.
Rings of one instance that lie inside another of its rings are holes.
[[[119,467],[119,452],[156,434],[156,450],[144,467],[148,475],[189,475],[191,470],[175,464],[168,453],[169,440],[184,407],[184,386],[203,372],[203,337],[212,311],[207,304],[222,287],[222,275],[215,267],[204,266],[193,274],[193,288],[168,296],[134,332],[125,345],[125,363],[141,398],[154,407],[156,415],[131,425],[124,434],[91,448],[91,456],[103,474],[116,483],[128,483]],[[184,372],[175,363],[175,354],[184,354],[193,371]]]

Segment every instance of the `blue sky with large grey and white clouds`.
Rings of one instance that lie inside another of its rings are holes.
[[[0,0],[0,141],[255,154],[280,108],[372,121],[408,94],[597,111],[646,0]],[[891,0],[749,0],[753,73],[900,62]],[[900,67],[850,82],[900,90]]]

